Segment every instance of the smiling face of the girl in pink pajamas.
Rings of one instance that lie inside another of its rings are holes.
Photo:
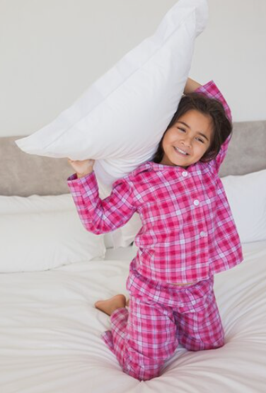
[[[160,164],[184,168],[195,164],[212,143],[212,133],[212,118],[189,110],[166,131]]]

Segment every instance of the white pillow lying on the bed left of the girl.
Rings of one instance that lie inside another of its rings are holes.
[[[86,231],[70,194],[0,196],[0,272],[103,259],[103,235]]]

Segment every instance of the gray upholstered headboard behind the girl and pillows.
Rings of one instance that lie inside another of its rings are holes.
[[[0,195],[69,193],[67,177],[74,171],[67,159],[26,154],[14,142],[21,137],[0,138]],[[265,147],[266,120],[233,123],[233,137],[220,176],[266,169]]]

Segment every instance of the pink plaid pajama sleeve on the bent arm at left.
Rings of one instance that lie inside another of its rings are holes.
[[[67,178],[79,217],[89,232],[104,234],[122,227],[134,212],[132,187],[124,178],[112,186],[112,193],[101,200],[94,171],[77,178],[76,173]]]

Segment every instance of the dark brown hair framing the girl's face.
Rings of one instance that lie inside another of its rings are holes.
[[[226,117],[226,112],[224,106],[220,101],[215,98],[209,98],[204,96],[202,93],[189,93],[183,96],[178,105],[178,109],[173,115],[166,131],[172,127],[178,119],[187,113],[189,110],[198,110],[203,115],[208,115],[212,118],[213,125],[213,136],[212,142],[199,161],[208,162],[215,159],[216,155],[221,149],[221,144],[225,142],[227,137],[231,134],[233,127],[231,121]],[[166,135],[166,131],[163,133]],[[163,159],[163,137],[158,144],[158,149],[156,150],[152,161],[160,163]]]

